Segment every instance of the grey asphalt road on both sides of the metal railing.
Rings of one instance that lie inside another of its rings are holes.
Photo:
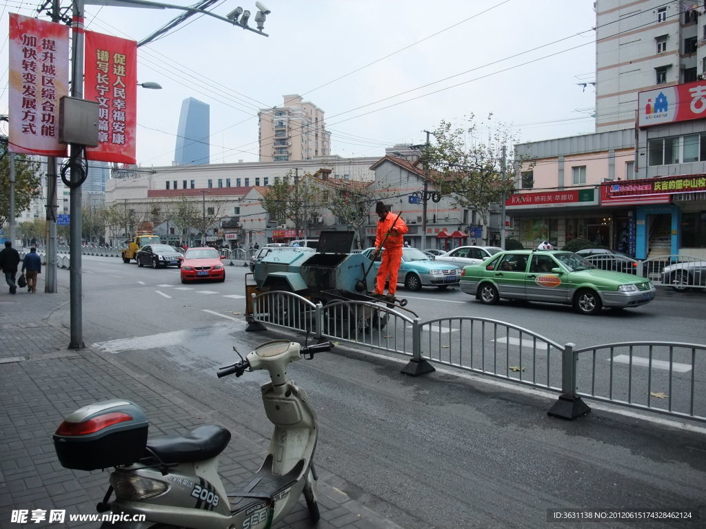
[[[164,391],[229,413],[244,425],[242,434],[264,442],[270,425],[259,399],[263,374],[215,378],[218,365],[232,362],[233,345],[246,353],[275,336],[244,332],[246,270],[227,267],[223,284],[182,286],[176,269],[84,257],[84,340],[136,374],[148,373]],[[68,284],[68,272],[59,281]],[[421,317],[483,315],[560,343],[616,336],[706,343],[701,295],[660,291],[650,305],[597,317],[547,305],[486,307],[460,291],[425,289],[407,297]],[[600,407],[565,422],[546,415],[556,396],[443,370],[409,378],[400,367],[393,358],[337,348],[292,365],[289,374],[318,413],[322,479],[402,527],[574,528],[547,522],[547,509],[704,504],[706,430],[700,425],[676,427]],[[648,526],[702,527],[706,511],[700,516],[699,522]]]

